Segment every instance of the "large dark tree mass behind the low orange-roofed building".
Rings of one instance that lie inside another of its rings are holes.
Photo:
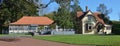
[[[37,8],[30,0],[3,0],[0,5],[0,27],[15,22],[22,16],[36,16]]]

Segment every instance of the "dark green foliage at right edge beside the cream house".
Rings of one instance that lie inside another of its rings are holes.
[[[112,32],[113,34],[120,35],[120,22],[119,21],[112,21]]]

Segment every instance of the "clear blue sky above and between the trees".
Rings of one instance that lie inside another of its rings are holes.
[[[48,3],[49,0],[42,1],[43,3]],[[80,6],[85,11],[85,6],[92,12],[96,12],[99,4],[105,4],[108,9],[112,9],[112,12],[108,15],[110,20],[119,20],[120,15],[120,0],[80,0]],[[59,5],[55,2],[51,3],[47,8],[44,9],[43,13],[50,13],[56,11]]]

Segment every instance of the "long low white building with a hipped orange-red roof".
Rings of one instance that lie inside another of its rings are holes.
[[[37,32],[40,26],[47,29],[53,22],[53,20],[44,16],[23,16],[18,21],[9,24],[9,34]]]

